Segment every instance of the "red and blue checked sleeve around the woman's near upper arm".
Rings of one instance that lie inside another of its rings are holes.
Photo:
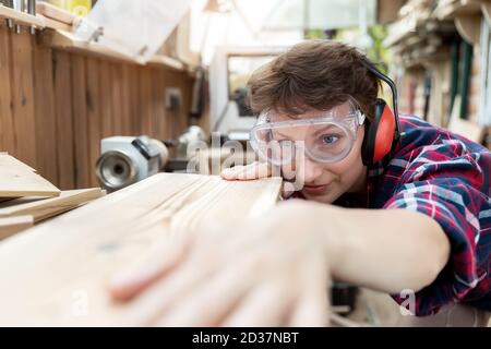
[[[457,141],[458,142],[458,141]],[[481,157],[486,156],[486,159]],[[446,233],[451,256],[436,279],[416,292],[416,315],[434,314],[452,302],[488,299],[491,288],[490,154],[466,153],[455,146],[414,149],[397,161],[405,170],[383,208],[405,208],[433,218]],[[393,294],[403,303],[406,298]]]

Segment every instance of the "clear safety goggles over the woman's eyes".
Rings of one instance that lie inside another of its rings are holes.
[[[309,119],[285,120],[266,111],[250,133],[255,153],[272,165],[286,165],[307,155],[319,163],[337,163],[351,152],[357,129],[364,122],[359,108],[334,108]]]

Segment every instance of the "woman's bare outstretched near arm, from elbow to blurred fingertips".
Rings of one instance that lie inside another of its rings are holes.
[[[330,276],[387,292],[429,285],[450,244],[440,226],[403,209],[346,209],[291,200],[233,233],[200,231],[116,276],[136,299],[123,324],[325,325]],[[267,311],[265,311],[267,309]]]

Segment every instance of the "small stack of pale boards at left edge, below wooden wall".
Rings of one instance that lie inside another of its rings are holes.
[[[0,154],[0,240],[105,194],[99,188],[60,191],[36,170]]]

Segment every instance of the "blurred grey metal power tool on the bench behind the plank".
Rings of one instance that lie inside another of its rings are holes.
[[[196,125],[188,128],[177,140],[159,141],[146,135],[103,139],[96,176],[100,185],[112,192],[161,171],[166,165],[167,171],[183,170],[188,145],[204,139],[204,131]],[[168,147],[176,148],[175,158],[169,158]]]

